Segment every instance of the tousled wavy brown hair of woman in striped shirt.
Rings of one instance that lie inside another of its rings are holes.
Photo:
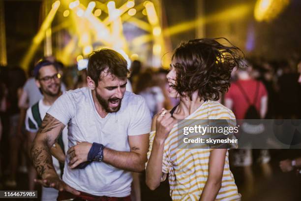
[[[218,100],[228,91],[231,71],[235,66],[243,66],[242,51],[226,38],[223,39],[232,46],[224,46],[216,39],[221,38],[189,40],[175,49],[172,57],[177,71],[174,88],[180,96],[192,100],[192,93],[198,91],[203,100]]]

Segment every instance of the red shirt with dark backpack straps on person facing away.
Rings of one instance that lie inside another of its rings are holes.
[[[257,83],[259,83],[258,96],[256,103],[254,104]],[[241,92],[241,89],[238,87],[238,84],[241,85],[243,91],[251,103],[255,105],[258,112],[260,111],[261,98],[267,96],[267,90],[262,82],[254,79],[238,80],[231,84],[225,98],[233,101],[232,111],[235,114],[236,119],[243,119],[250,105]]]

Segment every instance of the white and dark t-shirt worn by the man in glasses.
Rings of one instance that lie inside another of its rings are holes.
[[[43,118],[46,115],[47,110],[50,108],[50,105],[45,105],[43,103],[43,99],[41,99],[38,101],[38,108],[39,108],[40,117],[43,120]],[[38,124],[37,124],[36,120],[33,118],[31,107],[28,108],[27,112],[26,112],[25,127],[26,127],[26,130],[31,133],[37,133],[39,130]],[[67,153],[67,150],[68,150],[67,133],[68,133],[67,129],[64,128],[62,131],[62,139],[63,139],[63,143],[64,143],[65,153]],[[58,159],[56,159],[54,156],[52,156],[52,162],[53,162],[53,166],[54,166],[56,172],[60,176],[61,171],[60,171],[60,163],[59,163]]]

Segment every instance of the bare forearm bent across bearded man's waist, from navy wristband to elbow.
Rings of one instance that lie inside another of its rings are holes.
[[[120,169],[141,172],[145,168],[147,157],[135,152],[116,151],[106,147],[103,149],[103,162]]]

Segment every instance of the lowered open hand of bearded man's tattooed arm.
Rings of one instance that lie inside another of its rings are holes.
[[[43,179],[34,179],[34,182],[43,185],[44,187],[55,188],[59,191],[68,191],[74,195],[80,195],[80,192],[68,186],[65,182],[60,180],[58,175],[48,175]]]

